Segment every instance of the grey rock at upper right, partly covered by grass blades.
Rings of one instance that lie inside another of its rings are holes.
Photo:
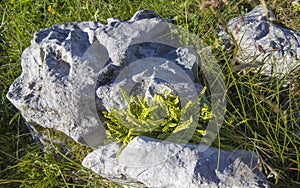
[[[268,16],[262,5],[258,5],[249,13],[230,20],[228,29],[239,45],[237,60],[240,64],[253,66],[256,71],[261,69],[267,76],[283,78],[300,67],[300,33],[275,24],[271,21],[274,19],[272,11],[267,12]],[[220,32],[219,36],[225,47],[229,47],[229,35]]]

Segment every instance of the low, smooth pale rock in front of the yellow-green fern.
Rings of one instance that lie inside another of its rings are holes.
[[[257,169],[256,155],[248,151],[229,152],[148,137],[134,138],[117,156],[119,147],[117,143],[101,146],[82,164],[103,177],[133,187],[141,187],[141,183],[160,188],[269,187]]]

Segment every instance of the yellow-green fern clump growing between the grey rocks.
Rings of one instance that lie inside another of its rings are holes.
[[[198,107],[198,112],[194,110],[196,105],[199,106],[205,89],[200,93],[198,100],[187,102],[183,108],[180,108],[179,97],[168,92],[161,95],[155,94],[152,102],[148,105],[146,98],[129,97],[121,89],[128,107],[103,112],[107,119],[105,125],[109,140],[116,140],[123,146],[127,145],[134,137],[141,135],[165,140],[174,133],[190,128],[192,123],[195,124],[193,119],[197,116],[198,122],[190,143],[199,143],[201,137],[206,133],[203,125],[212,117],[206,104]]]

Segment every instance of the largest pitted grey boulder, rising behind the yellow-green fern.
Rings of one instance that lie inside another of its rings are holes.
[[[22,74],[7,97],[27,121],[97,147],[106,138],[101,111],[126,105],[120,88],[149,101],[165,89],[182,105],[197,98],[195,50],[180,44],[173,27],[140,11],[129,21],[43,29],[24,50]]]

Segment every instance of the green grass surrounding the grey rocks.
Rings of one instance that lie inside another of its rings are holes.
[[[291,2],[268,1],[278,24],[300,31],[300,14],[292,8]],[[91,20],[105,23],[109,17],[126,20],[140,9],[154,10],[164,18],[176,18],[177,25],[188,28],[211,45],[223,64],[228,107],[214,145],[258,152],[262,161],[259,168],[269,177],[271,185],[300,186],[300,139],[296,135],[300,126],[299,118],[293,115],[299,88],[283,89],[279,80],[268,80],[250,72],[232,72],[236,49],[222,51],[215,34],[220,25],[250,11],[260,2],[232,0],[228,5],[219,3],[214,8],[200,10],[202,3],[201,0],[0,1],[0,187],[41,187],[45,182],[45,187],[118,186],[83,168],[80,161],[90,149],[63,135],[42,130],[49,137],[66,139],[68,147],[49,143],[45,150],[34,143],[20,113],[5,95],[9,85],[21,73],[21,53],[30,45],[35,31],[65,22]]]

